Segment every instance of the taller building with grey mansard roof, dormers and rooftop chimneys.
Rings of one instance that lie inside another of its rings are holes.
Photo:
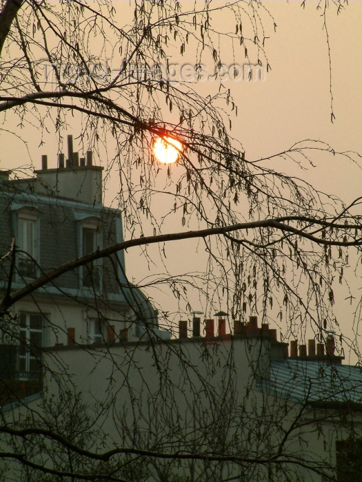
[[[91,151],[79,159],[68,136],[68,159],[59,154],[56,168],[42,156],[32,178],[0,172],[2,297],[123,240],[121,213],[102,202],[102,171]],[[114,254],[64,273],[10,308],[0,325],[0,375],[21,382],[27,395],[41,376],[39,348],[139,339],[146,325],[157,330],[157,311],[128,282],[123,252]]]

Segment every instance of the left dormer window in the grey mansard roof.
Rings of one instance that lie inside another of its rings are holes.
[[[22,277],[37,277],[38,223],[34,215],[18,218],[17,246],[23,253],[18,254],[18,272]]]

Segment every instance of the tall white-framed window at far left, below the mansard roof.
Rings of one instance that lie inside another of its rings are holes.
[[[19,377],[41,377],[43,317],[40,313],[20,313]]]

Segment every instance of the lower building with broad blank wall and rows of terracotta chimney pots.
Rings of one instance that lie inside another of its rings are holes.
[[[120,480],[359,479],[362,374],[334,355],[331,336],[325,346],[311,340],[308,353],[301,345],[297,354],[293,342],[289,356],[288,344],[277,342],[267,325],[259,328],[257,317],[235,322],[232,335],[225,333],[225,319],[218,320],[217,336],[213,319],[205,320],[205,331],[199,322],[194,319],[197,335],[187,337],[181,322],[181,337],[165,342],[48,348],[47,391],[4,407],[3,418],[24,424],[31,417],[37,427],[57,421],[68,427],[63,437],[74,437],[68,417],[74,420],[77,399],[87,414],[83,428],[77,426],[87,437],[82,447],[112,452],[106,467]],[[70,395],[61,388],[63,366],[72,374]],[[34,453],[36,443],[22,441],[21,454],[49,466],[46,444]],[[54,463],[64,447],[48,443]],[[133,458],[127,450],[136,450]],[[84,470],[75,456],[72,465],[62,459],[50,466],[69,472],[76,461]],[[103,466],[86,461],[94,471],[88,474],[103,473],[97,472]],[[23,465],[12,463],[8,470],[13,479],[6,480],[23,480]]]

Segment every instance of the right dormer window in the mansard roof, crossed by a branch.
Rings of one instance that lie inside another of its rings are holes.
[[[94,253],[100,247],[101,236],[99,227],[84,224],[82,229],[82,254]],[[83,266],[83,286],[93,289],[101,289],[101,260],[90,262]]]

